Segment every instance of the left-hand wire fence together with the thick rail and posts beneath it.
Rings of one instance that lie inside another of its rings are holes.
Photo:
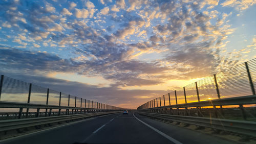
[[[1,75],[0,119],[120,111],[115,107],[86,100]]]

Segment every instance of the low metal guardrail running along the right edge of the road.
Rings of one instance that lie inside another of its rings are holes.
[[[208,127],[221,131],[228,131],[246,136],[256,137],[256,122],[236,121],[231,119],[208,118],[196,116],[182,116],[138,112],[142,115],[165,119],[168,121],[180,122],[185,124],[192,124],[201,127]]]

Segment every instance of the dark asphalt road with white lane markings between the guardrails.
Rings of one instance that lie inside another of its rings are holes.
[[[137,118],[136,118],[137,117]],[[1,143],[234,143],[129,112],[11,138]]]

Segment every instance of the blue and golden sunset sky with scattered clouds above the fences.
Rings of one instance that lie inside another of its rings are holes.
[[[256,1],[0,1],[0,74],[137,108],[256,58]]]

